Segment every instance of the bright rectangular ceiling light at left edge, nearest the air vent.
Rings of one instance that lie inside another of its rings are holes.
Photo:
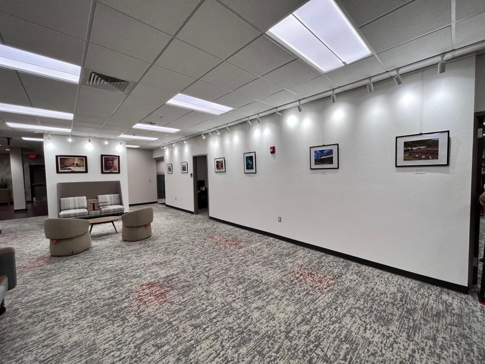
[[[0,44],[0,67],[79,83],[81,67]]]

